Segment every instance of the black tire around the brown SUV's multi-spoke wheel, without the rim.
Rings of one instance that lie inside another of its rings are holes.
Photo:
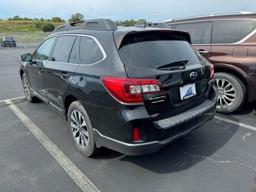
[[[234,86],[234,88],[236,90],[236,99],[235,99],[234,103],[231,106],[228,106],[226,108],[216,108],[217,112],[229,113],[229,112],[236,110],[244,103],[245,96],[246,96],[246,90],[245,90],[245,86],[241,80],[239,80],[232,74],[224,73],[224,72],[214,73],[214,79],[228,80]]]

